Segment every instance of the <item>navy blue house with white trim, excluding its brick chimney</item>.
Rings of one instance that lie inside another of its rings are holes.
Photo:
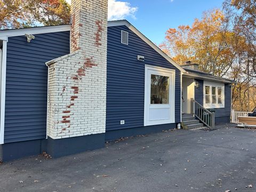
[[[174,129],[192,98],[230,121],[234,82],[179,66],[126,20],[108,22],[107,39],[105,140]],[[2,30],[0,47],[0,159],[48,153],[45,63],[70,53],[70,25]]]

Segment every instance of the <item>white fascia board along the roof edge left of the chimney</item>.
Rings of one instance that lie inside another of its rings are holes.
[[[61,25],[61,26],[46,26],[46,27],[31,27],[25,29],[7,29],[0,30],[0,39],[7,41],[7,37],[21,36],[25,34],[36,35],[44,33],[55,33],[61,31],[69,31],[71,28],[70,25]]]

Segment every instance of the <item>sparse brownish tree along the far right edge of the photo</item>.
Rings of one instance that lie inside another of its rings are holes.
[[[256,107],[256,1],[225,0],[223,8],[231,13],[233,30],[244,37],[246,44],[233,63],[233,75],[238,82],[233,88],[233,106],[250,111]]]

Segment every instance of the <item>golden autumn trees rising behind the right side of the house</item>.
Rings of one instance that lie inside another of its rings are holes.
[[[256,107],[255,0],[225,3],[225,10],[206,11],[191,26],[168,29],[160,46],[180,65],[190,60],[201,71],[235,80],[233,108],[251,111]]]

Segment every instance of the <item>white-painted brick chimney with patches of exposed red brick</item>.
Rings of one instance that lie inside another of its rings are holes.
[[[72,0],[70,51],[49,66],[47,134],[105,133],[107,0]]]

